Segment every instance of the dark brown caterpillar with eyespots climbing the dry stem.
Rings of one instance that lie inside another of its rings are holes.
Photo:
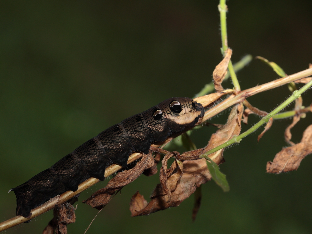
[[[16,215],[31,217],[31,209],[58,194],[76,191],[90,177],[104,180],[109,165],[126,167],[134,151],[148,154],[151,143],[195,126],[203,116],[200,103],[176,97],[124,119],[80,145],[51,168],[12,188],[17,198]]]

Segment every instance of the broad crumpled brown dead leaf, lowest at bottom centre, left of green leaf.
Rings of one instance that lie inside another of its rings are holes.
[[[152,200],[148,205],[144,209],[132,214],[132,216],[148,215],[169,207],[176,207],[194,193],[196,188],[202,183],[207,183],[207,181],[211,180],[206,159],[184,161],[183,168],[183,176],[180,179],[177,179],[177,173],[172,174],[168,178],[168,185],[171,191],[170,202],[166,202],[168,201],[168,196],[162,186],[158,184],[152,193]]]

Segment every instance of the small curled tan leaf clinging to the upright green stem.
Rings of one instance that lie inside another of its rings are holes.
[[[227,49],[224,58],[216,66],[215,70],[212,73],[215,90],[217,92],[221,92],[223,90],[221,83],[224,80],[225,75],[227,75],[227,67],[229,65],[231,56],[232,56],[232,50]]]

